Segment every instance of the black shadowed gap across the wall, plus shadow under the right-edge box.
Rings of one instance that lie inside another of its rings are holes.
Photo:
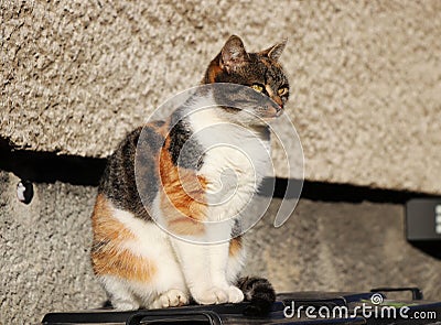
[[[84,186],[97,186],[99,184],[107,161],[106,159],[63,155],[55,152],[14,150],[13,145],[2,138],[0,138],[0,156],[2,156],[0,160],[0,170],[11,172],[23,181],[34,183],[55,183],[60,181]],[[283,198],[288,180],[278,177],[276,178],[275,188],[272,188],[272,185],[273,182],[270,180],[263,182],[260,195]],[[304,181],[301,197],[334,203],[373,202],[404,205],[411,198],[437,196],[416,192]],[[410,243],[422,252],[441,259],[441,242],[415,241]]]

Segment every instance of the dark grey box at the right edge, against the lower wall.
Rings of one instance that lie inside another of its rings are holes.
[[[407,202],[406,237],[415,247],[441,259],[441,198]]]

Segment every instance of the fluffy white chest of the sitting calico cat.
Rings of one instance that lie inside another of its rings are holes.
[[[270,144],[243,127],[218,123],[196,132],[204,148],[197,172],[206,181],[208,218],[237,217],[270,174]]]

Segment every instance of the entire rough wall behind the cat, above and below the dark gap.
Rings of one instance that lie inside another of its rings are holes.
[[[251,51],[289,37],[306,178],[441,194],[440,1],[0,0],[0,138],[18,148],[106,156],[196,85],[229,34]],[[41,183],[25,206],[18,181],[0,171],[0,323],[98,306],[96,188]],[[405,241],[402,206],[302,199],[282,228],[271,221],[249,232],[247,270],[278,290],[419,285],[441,300],[440,261]]]

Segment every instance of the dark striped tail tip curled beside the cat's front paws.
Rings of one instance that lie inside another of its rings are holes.
[[[245,308],[247,316],[263,316],[271,311],[276,301],[276,292],[271,283],[263,278],[240,278],[237,286],[244,292],[245,301],[250,304]]]

